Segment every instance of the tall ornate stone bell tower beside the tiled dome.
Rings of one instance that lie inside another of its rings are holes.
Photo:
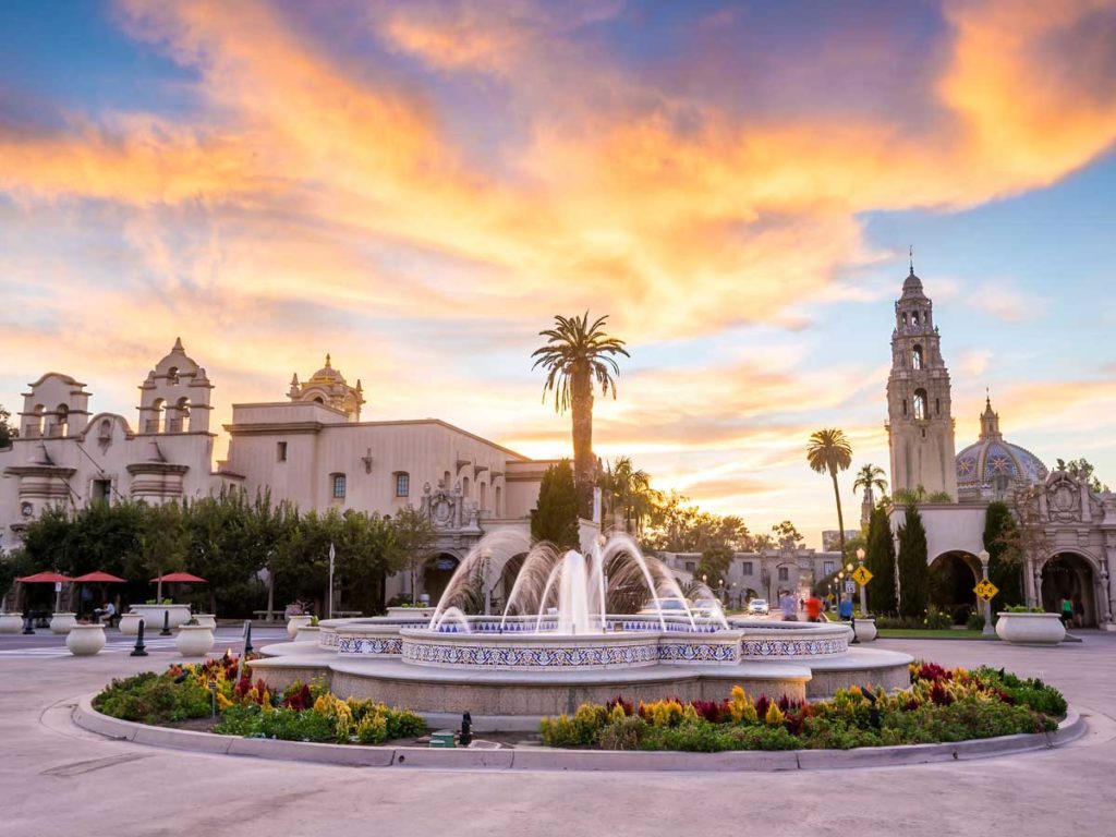
[[[887,378],[892,490],[946,492],[958,499],[950,373],[942,360],[934,305],[911,273],[895,302],[892,373]]]

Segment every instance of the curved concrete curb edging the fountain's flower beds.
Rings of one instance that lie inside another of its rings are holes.
[[[1086,723],[1070,710],[1054,732],[1022,733],[943,744],[866,747],[856,750],[740,750],[720,753],[642,752],[617,750],[537,749],[429,749],[424,747],[354,747],[305,741],[218,735],[166,727],[148,727],[103,715],[93,708],[93,696],[81,698],[74,709],[75,724],[116,741],[165,747],[191,752],[252,756],[260,759],[307,761],[345,767],[400,767],[439,770],[594,770],[594,771],[741,771],[837,770],[901,767],[942,761],[1009,756],[1049,750],[1085,734]]]

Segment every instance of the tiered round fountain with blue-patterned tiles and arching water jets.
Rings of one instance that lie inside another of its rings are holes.
[[[525,557],[502,610],[475,613],[514,556]],[[478,720],[570,712],[618,693],[719,701],[735,684],[792,699],[850,684],[898,689],[911,661],[850,650],[844,624],[725,617],[719,607],[695,614],[670,569],[626,535],[584,555],[490,535],[461,561],[432,617],[319,627],[317,644],[264,648],[269,658],[253,672],[272,687],[323,676],[338,694]]]

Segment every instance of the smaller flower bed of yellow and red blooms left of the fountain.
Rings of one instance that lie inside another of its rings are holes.
[[[238,676],[239,672],[239,676]],[[339,700],[320,683],[292,683],[272,694],[252,683],[249,666],[225,654],[194,665],[172,665],[114,680],[93,700],[98,712],[125,721],[179,724],[212,718],[212,732],[283,741],[382,744],[415,738],[426,723],[414,712],[373,701]]]

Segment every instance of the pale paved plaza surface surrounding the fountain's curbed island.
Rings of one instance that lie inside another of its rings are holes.
[[[949,665],[982,662],[1058,684],[1089,715],[1064,749],[907,768],[787,773],[373,770],[204,756],[74,728],[73,699],[157,667],[125,654],[0,656],[0,835],[1116,834],[1116,636],[1020,648],[881,641]]]

